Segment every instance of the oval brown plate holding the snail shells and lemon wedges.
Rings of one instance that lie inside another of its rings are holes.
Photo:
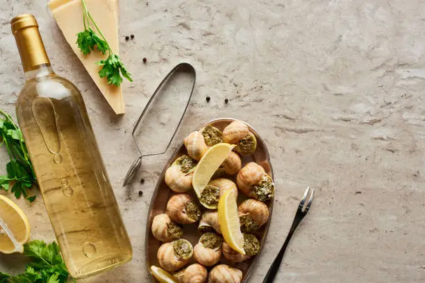
[[[196,130],[203,128],[206,125],[215,126],[219,130],[223,130],[232,121],[235,121],[235,119],[231,119],[231,118],[215,119],[213,121],[209,121],[208,123],[205,123],[205,124],[199,126]],[[271,175],[272,178],[273,178],[273,169],[272,169],[272,164],[270,164],[270,161],[269,161],[269,152],[267,151],[267,146],[265,145],[264,140],[258,135],[256,130],[254,130],[251,126],[249,126],[249,128],[250,128],[251,132],[253,132],[253,134],[256,136],[257,148],[256,148],[256,152],[253,153],[253,155],[241,157],[242,166],[244,166],[245,164],[247,164],[249,162],[256,162],[256,163],[260,164],[261,166],[263,166],[266,173]],[[147,217],[147,228],[146,228],[146,247],[145,247],[145,250],[146,250],[148,270],[149,270],[149,267],[152,266],[152,265],[160,266],[158,264],[158,259],[156,257],[156,253],[158,252],[158,248],[160,247],[161,242],[158,241],[157,239],[155,239],[153,237],[152,232],[151,232],[151,225],[152,225],[153,217],[155,217],[158,214],[165,213],[165,210],[166,210],[166,207],[167,207],[167,200],[169,199],[170,196],[175,194],[174,191],[169,189],[167,184],[165,184],[165,180],[164,180],[165,171],[174,162],[174,160],[176,160],[176,158],[178,158],[179,156],[181,156],[183,154],[187,154],[187,151],[186,151],[185,146],[182,142],[180,144],[180,146],[178,146],[178,148],[176,149],[176,151],[174,152],[172,157],[168,160],[167,164],[165,164],[165,167],[163,169],[163,173],[161,173],[160,179],[158,180],[158,184],[156,185],[156,189],[155,189],[155,191],[153,191],[153,196],[152,196],[152,199],[151,199],[151,205],[149,207],[149,213],[148,213],[148,217]],[[225,177],[225,178],[228,178],[228,177]],[[230,179],[235,181],[235,176],[233,178],[230,178]],[[190,191],[190,192],[188,192],[188,194],[190,194],[195,199],[197,199],[197,196],[194,194],[194,191]],[[242,203],[242,201],[245,200],[245,199],[247,199],[247,196],[244,196],[244,194],[242,194],[242,193],[239,194],[238,204]],[[269,207],[270,218],[271,218],[272,217],[272,209],[273,209],[273,199],[269,200],[266,204]],[[260,252],[261,252],[261,250],[263,250],[263,246],[265,245],[265,239],[267,237],[267,232],[269,230],[270,218],[269,218],[269,221],[267,221],[267,223],[265,225],[263,225],[263,227],[261,227],[260,230],[256,233],[258,239],[260,240],[260,245],[261,245]],[[191,225],[184,225],[183,238],[190,241],[193,246],[195,246],[197,244],[197,242],[199,241],[199,237],[201,236],[201,234],[197,231],[197,227],[198,227],[198,222],[191,224]],[[222,264],[228,264],[229,266],[239,268],[243,273],[242,283],[245,283],[245,282],[248,281],[248,278],[249,278],[249,275],[251,274],[253,266],[256,265],[256,261],[257,261],[259,255],[260,255],[260,252],[258,252],[258,255],[251,257],[250,259],[243,261],[239,264],[233,264],[233,263],[227,261],[224,257],[222,257],[222,259],[220,259],[218,264],[221,264],[221,263]],[[194,264],[195,262],[196,261],[194,261],[194,259],[192,259],[190,264]],[[188,265],[190,265],[190,264],[188,264]],[[207,268],[207,269],[208,269],[208,271],[211,270],[211,268]],[[152,276],[151,276],[151,280],[152,280],[152,282],[157,282]]]

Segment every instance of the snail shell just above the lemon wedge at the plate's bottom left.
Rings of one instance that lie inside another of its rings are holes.
[[[185,239],[163,243],[158,249],[158,262],[166,271],[174,272],[189,263],[193,255],[192,244]]]

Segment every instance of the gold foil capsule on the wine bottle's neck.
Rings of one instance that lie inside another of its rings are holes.
[[[37,20],[33,15],[24,14],[10,21],[12,34],[15,35],[16,45],[21,55],[24,71],[33,71],[40,65],[50,65],[44,44],[38,31]]]

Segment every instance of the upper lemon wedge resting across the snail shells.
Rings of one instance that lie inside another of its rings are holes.
[[[219,169],[219,166],[226,160],[234,147],[234,144],[226,144],[223,142],[216,144],[215,146],[211,146],[202,156],[201,160],[199,160],[198,165],[194,169],[192,178],[193,189],[199,200],[201,200],[203,189],[208,185],[215,171]],[[211,207],[202,201],[201,204],[206,208],[215,209],[215,207]]]

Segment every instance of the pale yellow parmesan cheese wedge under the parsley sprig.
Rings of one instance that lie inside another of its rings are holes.
[[[119,54],[118,0],[86,0],[85,2],[94,22],[97,23],[108,41],[110,49]],[[106,101],[108,101],[116,114],[124,113],[125,105],[121,86],[108,85],[106,78],[99,77],[101,66],[96,65],[96,62],[105,60],[108,57],[108,53],[103,55],[95,49],[90,54],[84,55],[76,44],[77,33],[84,31],[83,4],[81,0],[51,0],[49,8],[65,39],[78,59],[81,60],[103,96],[105,96]]]

